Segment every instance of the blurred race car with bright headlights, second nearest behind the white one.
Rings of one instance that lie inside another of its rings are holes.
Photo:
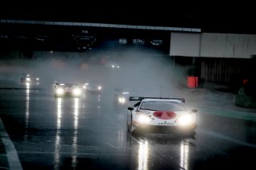
[[[82,97],[82,85],[71,83],[54,83],[54,97]]]

